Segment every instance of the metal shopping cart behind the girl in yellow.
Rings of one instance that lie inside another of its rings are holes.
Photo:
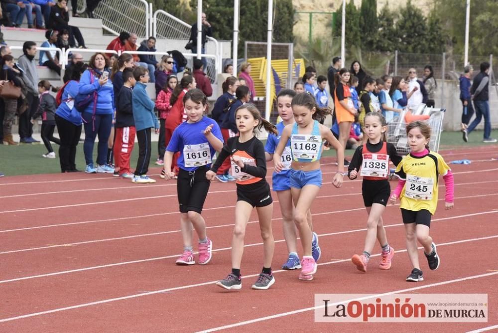
[[[446,109],[434,109],[423,107],[418,114],[429,115],[429,119],[426,121],[431,127],[431,140],[429,141],[429,150],[431,152],[439,151],[439,141],[441,140],[441,131],[443,129],[443,118]],[[410,153],[410,147],[408,146],[408,140],[406,138],[406,125],[404,122],[406,110],[403,110],[398,118],[394,118],[394,121],[387,124],[387,142],[391,143],[396,147],[396,151],[399,155],[407,155]],[[403,121],[400,121],[400,120]]]

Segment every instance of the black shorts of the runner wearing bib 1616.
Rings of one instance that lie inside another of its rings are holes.
[[[180,168],[176,191],[181,213],[188,211],[201,213],[208,195],[209,185],[211,185],[211,181],[206,179],[208,171],[209,167],[200,167],[195,171],[186,171]]]

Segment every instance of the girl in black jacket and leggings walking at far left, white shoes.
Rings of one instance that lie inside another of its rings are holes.
[[[54,137],[55,130],[55,98],[50,95],[50,82],[47,80],[41,80],[38,83],[38,92],[40,93],[40,103],[38,109],[31,117],[31,123],[35,122],[35,119],[41,116],[41,139],[43,144],[47,149],[48,153],[43,154],[42,157],[46,159],[55,159],[55,153],[52,149],[50,141],[60,145],[60,140]]]

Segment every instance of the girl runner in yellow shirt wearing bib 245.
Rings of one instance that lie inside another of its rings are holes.
[[[431,270],[440,265],[436,244],[429,236],[431,217],[438,200],[438,178],[443,175],[446,187],[445,207],[453,208],[454,183],[450,167],[441,155],[429,151],[431,128],[423,121],[414,121],[406,126],[411,153],[396,167],[401,179],[391,195],[390,202],[400,198],[401,216],[406,231],[406,249],[413,270],[406,281],[424,281],[418,262],[417,240],[424,247],[424,254]]]

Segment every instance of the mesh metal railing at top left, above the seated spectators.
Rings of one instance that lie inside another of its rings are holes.
[[[85,11],[85,1],[79,1],[78,12],[83,11]],[[147,38],[152,32],[150,29],[152,4],[145,0],[100,1],[94,16],[102,19],[102,28],[114,35],[127,31]]]

